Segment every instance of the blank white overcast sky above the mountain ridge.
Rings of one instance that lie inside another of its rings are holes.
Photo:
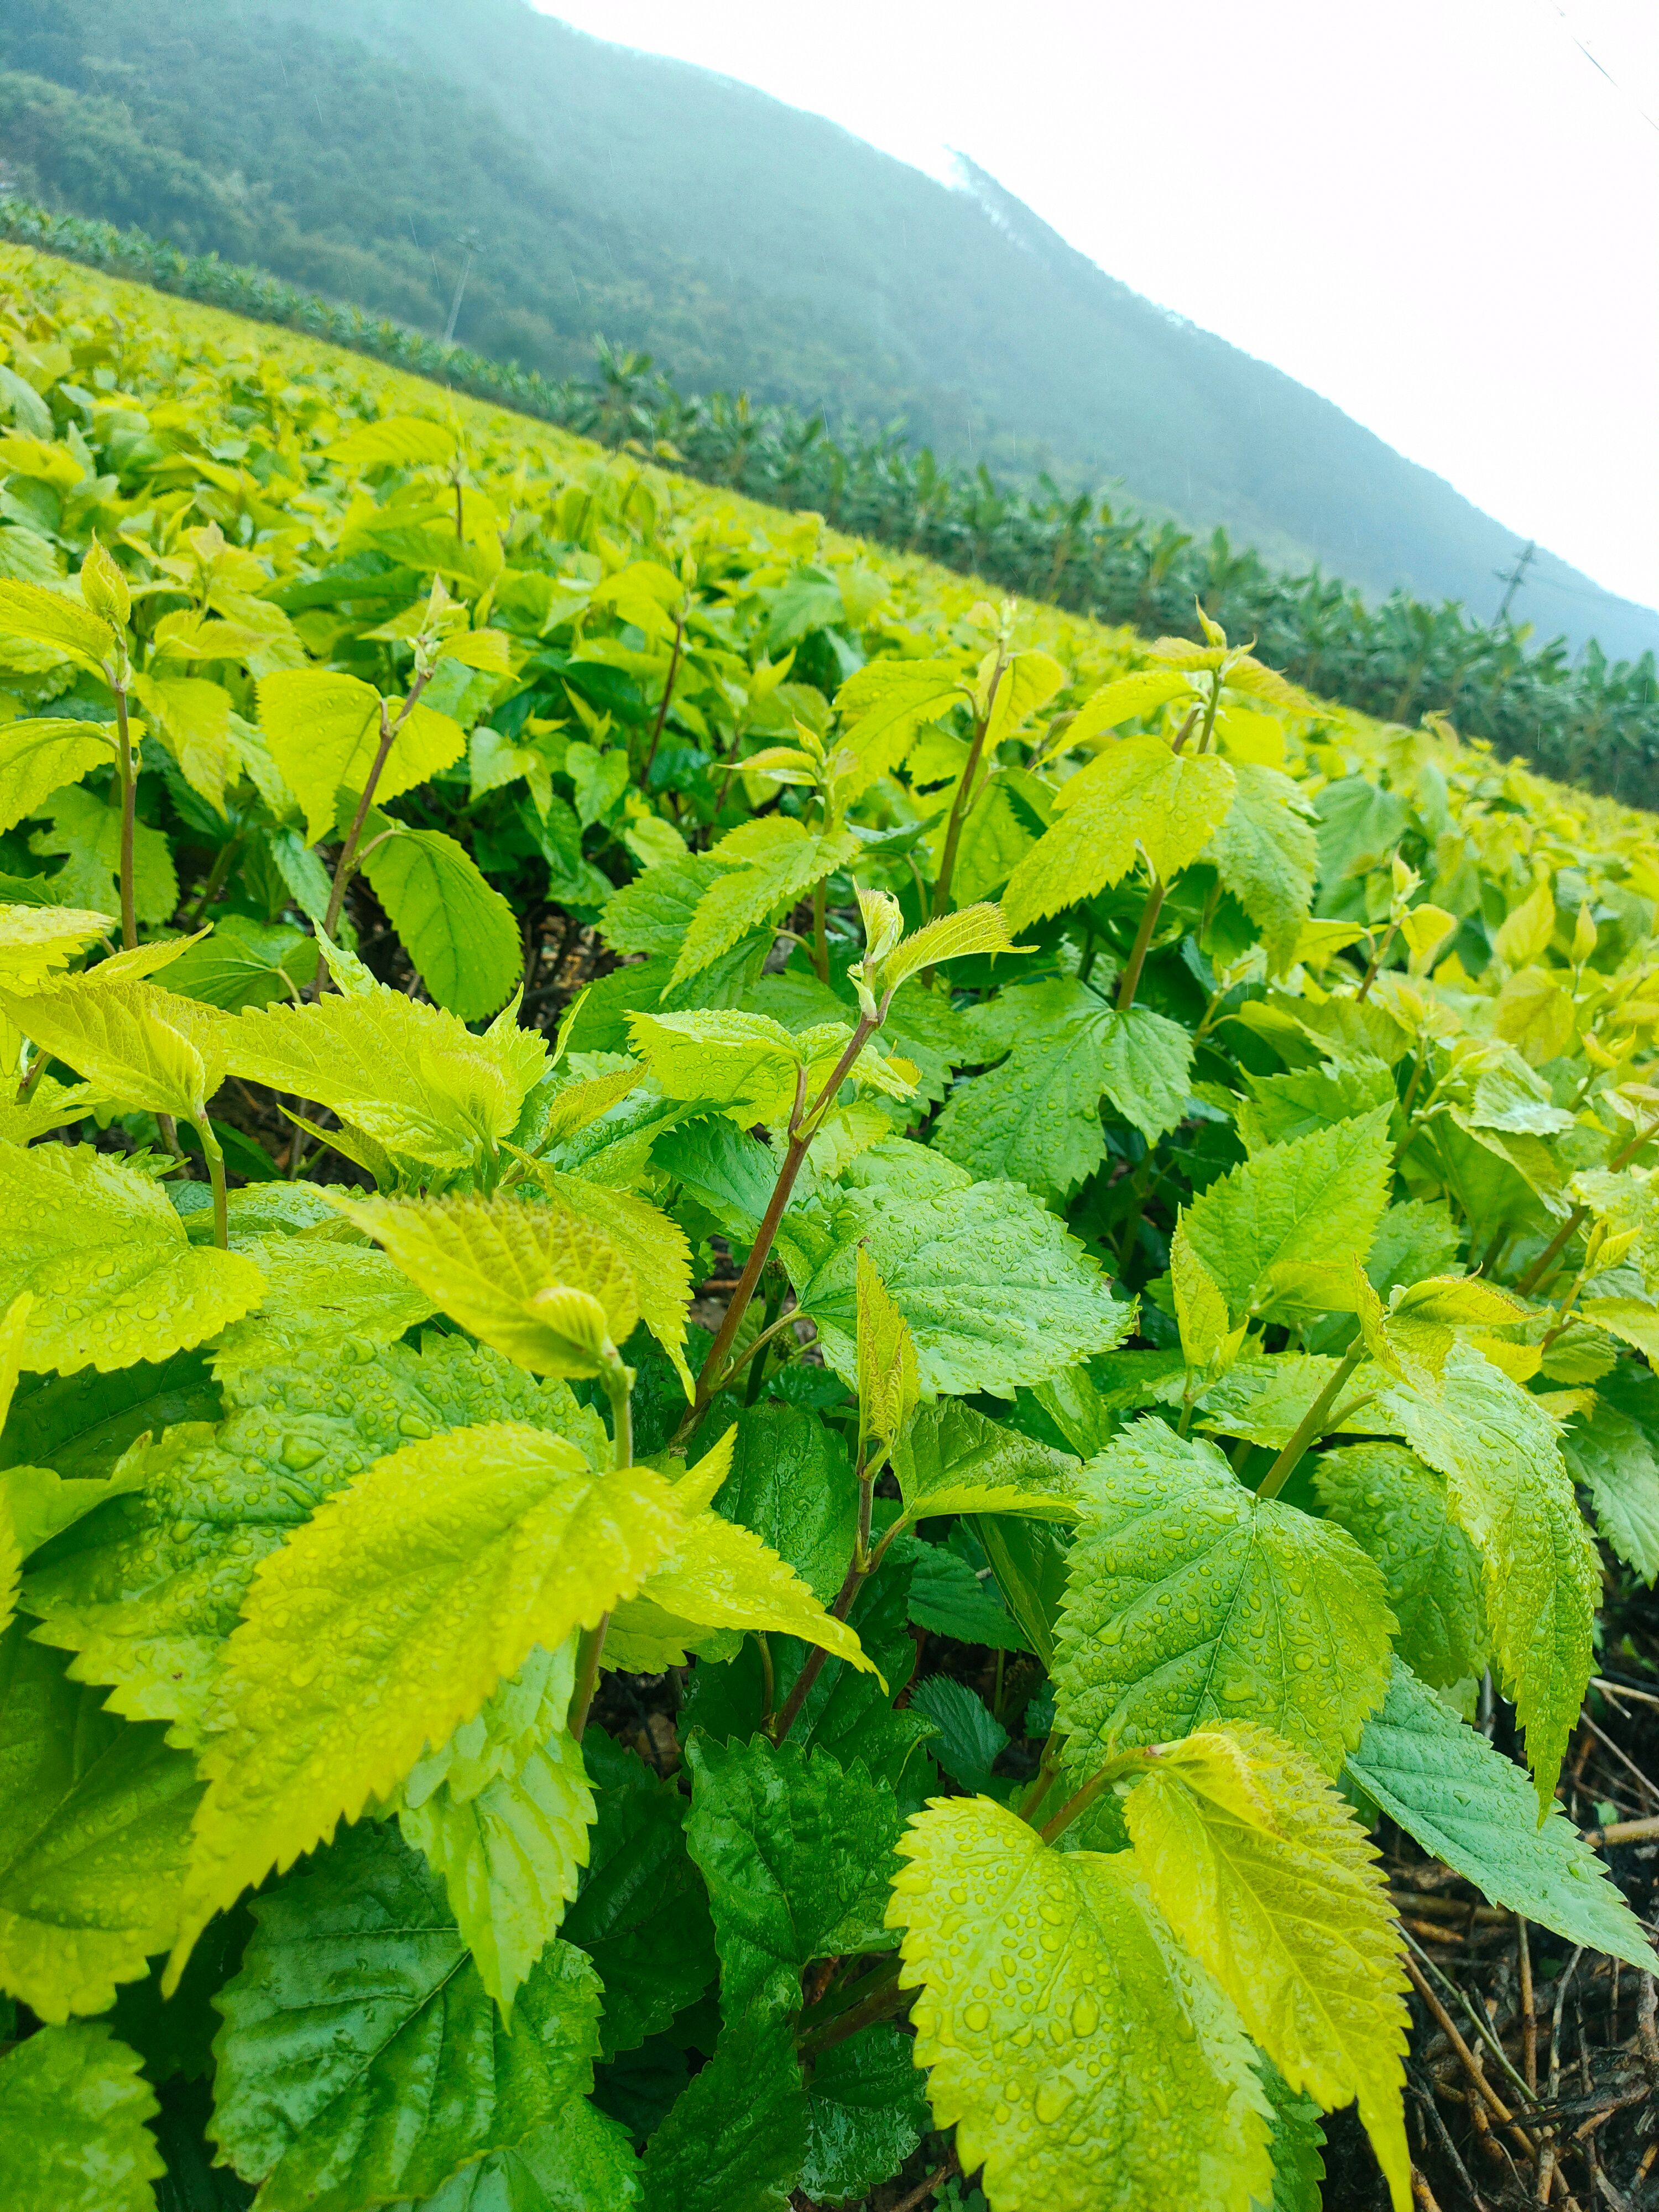
[[[1659,0],[533,4],[936,177],[960,148],[1113,276],[1659,606]]]

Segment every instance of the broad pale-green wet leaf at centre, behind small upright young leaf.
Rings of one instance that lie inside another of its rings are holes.
[[[1133,1310],[1113,1298],[1099,1263],[1018,1183],[973,1183],[909,1206],[849,1190],[834,1239],[796,1296],[845,1383],[858,1365],[860,1241],[909,1323],[927,1394],[1011,1398],[1022,1383],[1110,1352],[1128,1329]]]

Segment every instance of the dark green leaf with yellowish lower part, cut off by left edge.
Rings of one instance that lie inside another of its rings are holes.
[[[201,1794],[159,1728],[100,1705],[22,1621],[0,1637],[0,1989],[51,2022],[102,2013],[173,1942]]]

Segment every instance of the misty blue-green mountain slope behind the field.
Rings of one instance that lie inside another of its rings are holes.
[[[1374,593],[1491,613],[1517,538],[1340,409],[1168,316],[989,177],[951,192],[818,117],[520,0],[11,0],[20,188],[166,228],[553,374],[595,330],[681,385],[863,418]],[[1659,646],[1548,555],[1515,613]]]

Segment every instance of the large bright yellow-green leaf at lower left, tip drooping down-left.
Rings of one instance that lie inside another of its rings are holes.
[[[535,1644],[593,1628],[675,1548],[646,1467],[597,1478],[575,1444],[493,1422],[407,1444],[261,1559],[201,1752],[184,1931],[387,1796]]]

